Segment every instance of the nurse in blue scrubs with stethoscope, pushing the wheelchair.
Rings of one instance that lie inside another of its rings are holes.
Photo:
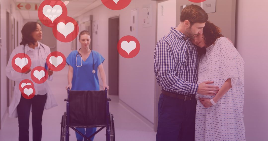
[[[68,71],[68,86],[66,89],[76,91],[99,91],[99,79],[97,70],[101,75],[103,82],[103,89],[108,88],[106,84],[106,75],[103,69],[104,58],[98,52],[91,50],[90,45],[90,33],[88,31],[82,31],[79,34],[79,42],[81,43],[81,49],[79,51],[74,50],[66,58],[66,62],[69,65]],[[89,137],[96,128],[76,128],[85,136]],[[76,132],[77,141],[83,141],[83,136]],[[93,141],[94,136],[91,138]]]

